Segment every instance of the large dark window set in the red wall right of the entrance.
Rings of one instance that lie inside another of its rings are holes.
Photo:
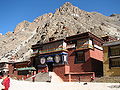
[[[76,52],[75,63],[83,63],[85,62],[85,53],[84,51]]]

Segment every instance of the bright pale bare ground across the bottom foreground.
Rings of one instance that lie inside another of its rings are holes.
[[[120,90],[119,83],[28,82],[11,79],[9,90]]]

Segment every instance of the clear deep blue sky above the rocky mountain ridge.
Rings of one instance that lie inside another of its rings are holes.
[[[45,13],[54,13],[65,2],[106,16],[120,14],[120,0],[0,0],[0,33],[13,31],[23,20],[32,22]]]

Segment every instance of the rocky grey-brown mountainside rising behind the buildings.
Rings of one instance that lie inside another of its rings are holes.
[[[67,2],[54,14],[37,17],[33,22],[19,23],[14,32],[0,34],[0,62],[29,60],[31,45],[48,42],[49,38],[91,32],[99,37],[120,36],[120,15],[104,16],[97,12],[80,10]]]

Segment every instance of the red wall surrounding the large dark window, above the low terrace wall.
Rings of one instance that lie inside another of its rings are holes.
[[[74,49],[68,52],[68,63],[70,66],[70,72],[86,72],[91,71],[91,61],[89,51],[85,51],[85,63],[75,64],[75,53]]]

